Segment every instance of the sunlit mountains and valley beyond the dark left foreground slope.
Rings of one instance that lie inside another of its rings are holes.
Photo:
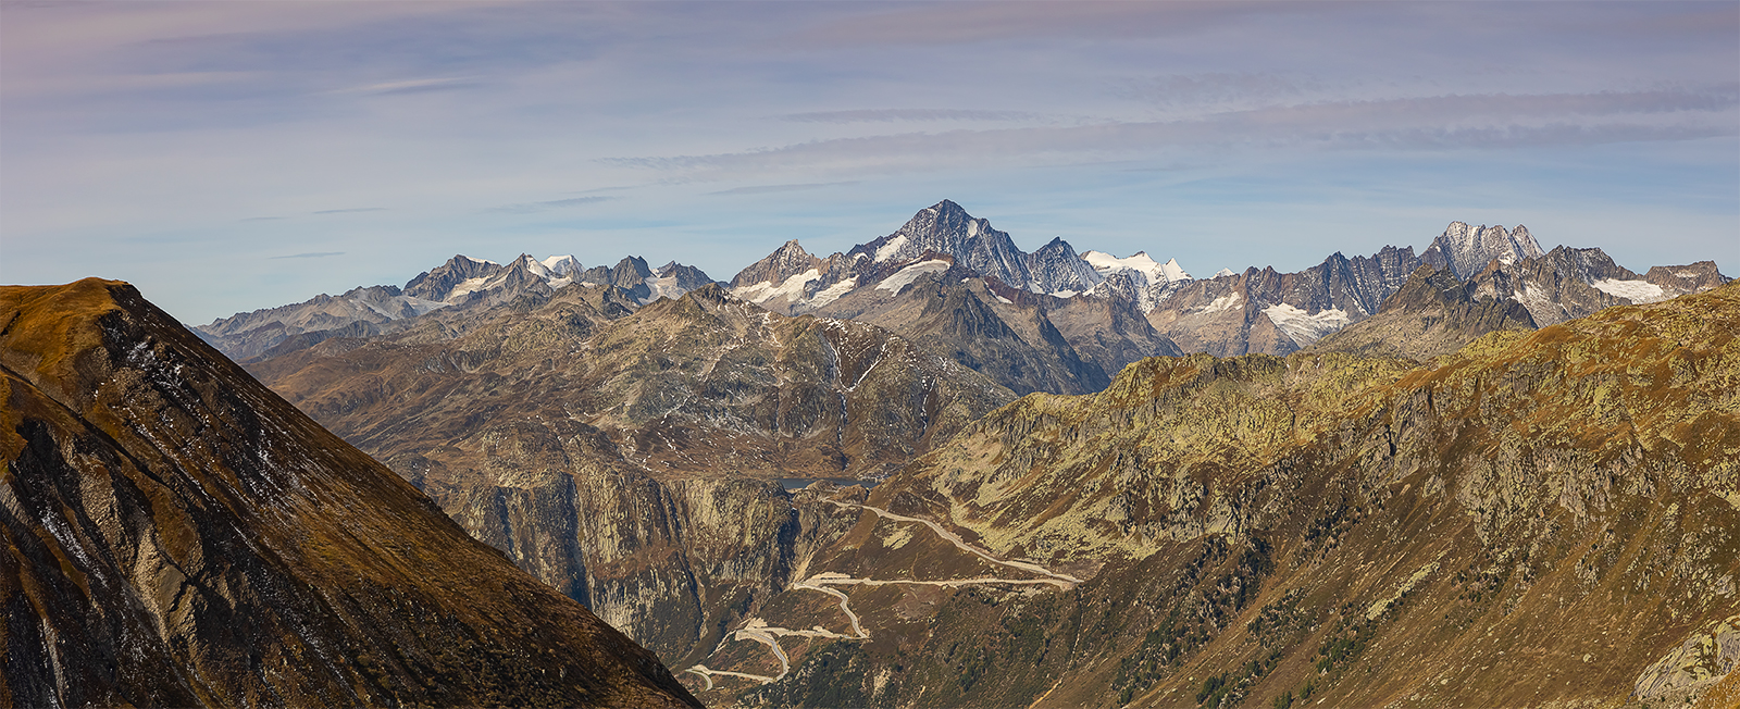
[[[1721,707],[1737,288],[1465,222],[1192,278],[941,202],[729,285],[456,257],[219,320],[313,421],[190,419],[331,429],[712,704]]]

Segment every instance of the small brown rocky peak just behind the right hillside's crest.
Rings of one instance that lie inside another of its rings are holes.
[[[1401,356],[1425,361],[1449,354],[1496,330],[1533,330],[1528,308],[1512,299],[1474,297],[1474,283],[1420,266],[1383,301],[1378,315],[1307,348],[1317,353]]]

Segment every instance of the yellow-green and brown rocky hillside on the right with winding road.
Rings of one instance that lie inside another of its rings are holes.
[[[1409,290],[1451,290],[1434,276]],[[868,499],[828,497],[856,527],[691,686],[750,706],[1730,706],[1737,335],[1724,285],[1430,367],[1194,354],[1027,396]]]

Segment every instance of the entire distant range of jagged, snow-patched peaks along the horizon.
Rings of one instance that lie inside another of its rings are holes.
[[[1286,354],[1310,348],[1376,315],[1422,266],[1477,283],[1479,297],[1521,302],[1529,311],[1528,327],[1728,280],[1709,261],[1637,275],[1599,248],[1545,252],[1522,226],[1460,221],[1418,254],[1413,247],[1385,247],[1373,255],[1331,254],[1296,273],[1253,266],[1194,278],[1176,259],[1075,252],[1061,238],[1023,252],[990,221],[943,200],[894,233],[842,254],[816,257],[786,242],[740,271],[729,290],[780,315],[814,313],[882,327],[1016,394],[1081,394],[1100,391],[1145,356]],[[640,257],[626,257],[612,268],[583,269],[571,255],[520,255],[508,266],[456,255],[404,288],[318,295],[195,330],[226,354],[247,360],[327,337],[386,335],[435,311],[470,313],[527,294],[546,297],[569,283],[621,288],[621,306],[635,309],[713,282],[675,261],[652,269]],[[440,320],[463,328],[468,318]]]

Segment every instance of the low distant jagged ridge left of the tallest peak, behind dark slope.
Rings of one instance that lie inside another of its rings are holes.
[[[569,283],[614,285],[635,304],[659,297],[679,297],[713,283],[706,273],[675,261],[647,268],[646,259],[630,255],[616,266],[581,269],[572,255],[538,261],[520,254],[512,264],[454,255],[445,264],[425,271],[405,283],[362,287],[343,295],[315,295],[310,301],[237,313],[193,330],[235,360],[263,354],[285,341],[308,346],[327,337],[367,337],[397,332],[407,321],[444,308],[489,308],[527,294],[548,295]]]

